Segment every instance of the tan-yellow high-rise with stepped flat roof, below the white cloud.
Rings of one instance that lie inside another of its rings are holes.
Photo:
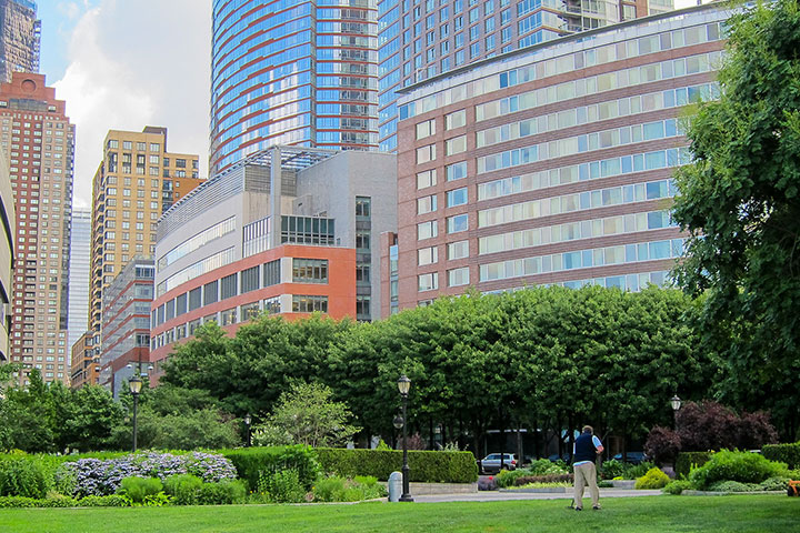
[[[92,184],[89,330],[96,335],[103,290],[131,259],[153,255],[161,213],[203,181],[198,155],[167,151],[167,128],[108,132]]]

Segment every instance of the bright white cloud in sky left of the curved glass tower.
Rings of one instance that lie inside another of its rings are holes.
[[[168,150],[199,153],[206,175],[210,2],[101,0],[86,7],[70,39],[69,67],[53,83],[77,125],[74,207],[91,205],[108,130],[163,125]]]

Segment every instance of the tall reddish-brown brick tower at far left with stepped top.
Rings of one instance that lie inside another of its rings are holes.
[[[69,382],[74,127],[44,76],[22,72],[0,84],[0,127],[17,208],[10,361],[40,369],[44,381]]]

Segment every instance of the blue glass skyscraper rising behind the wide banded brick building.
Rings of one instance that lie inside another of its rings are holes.
[[[671,11],[672,0],[379,0],[379,142],[397,150],[396,90],[577,31]]]

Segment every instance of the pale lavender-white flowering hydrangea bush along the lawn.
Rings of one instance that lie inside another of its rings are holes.
[[[204,482],[236,480],[236,467],[222,455],[193,452],[187,455],[147,452],[118,459],[79,459],[63,463],[57,477],[70,477],[73,496],[107,496],[117,492],[122,480],[132,475],[158,477],[193,474]]]

